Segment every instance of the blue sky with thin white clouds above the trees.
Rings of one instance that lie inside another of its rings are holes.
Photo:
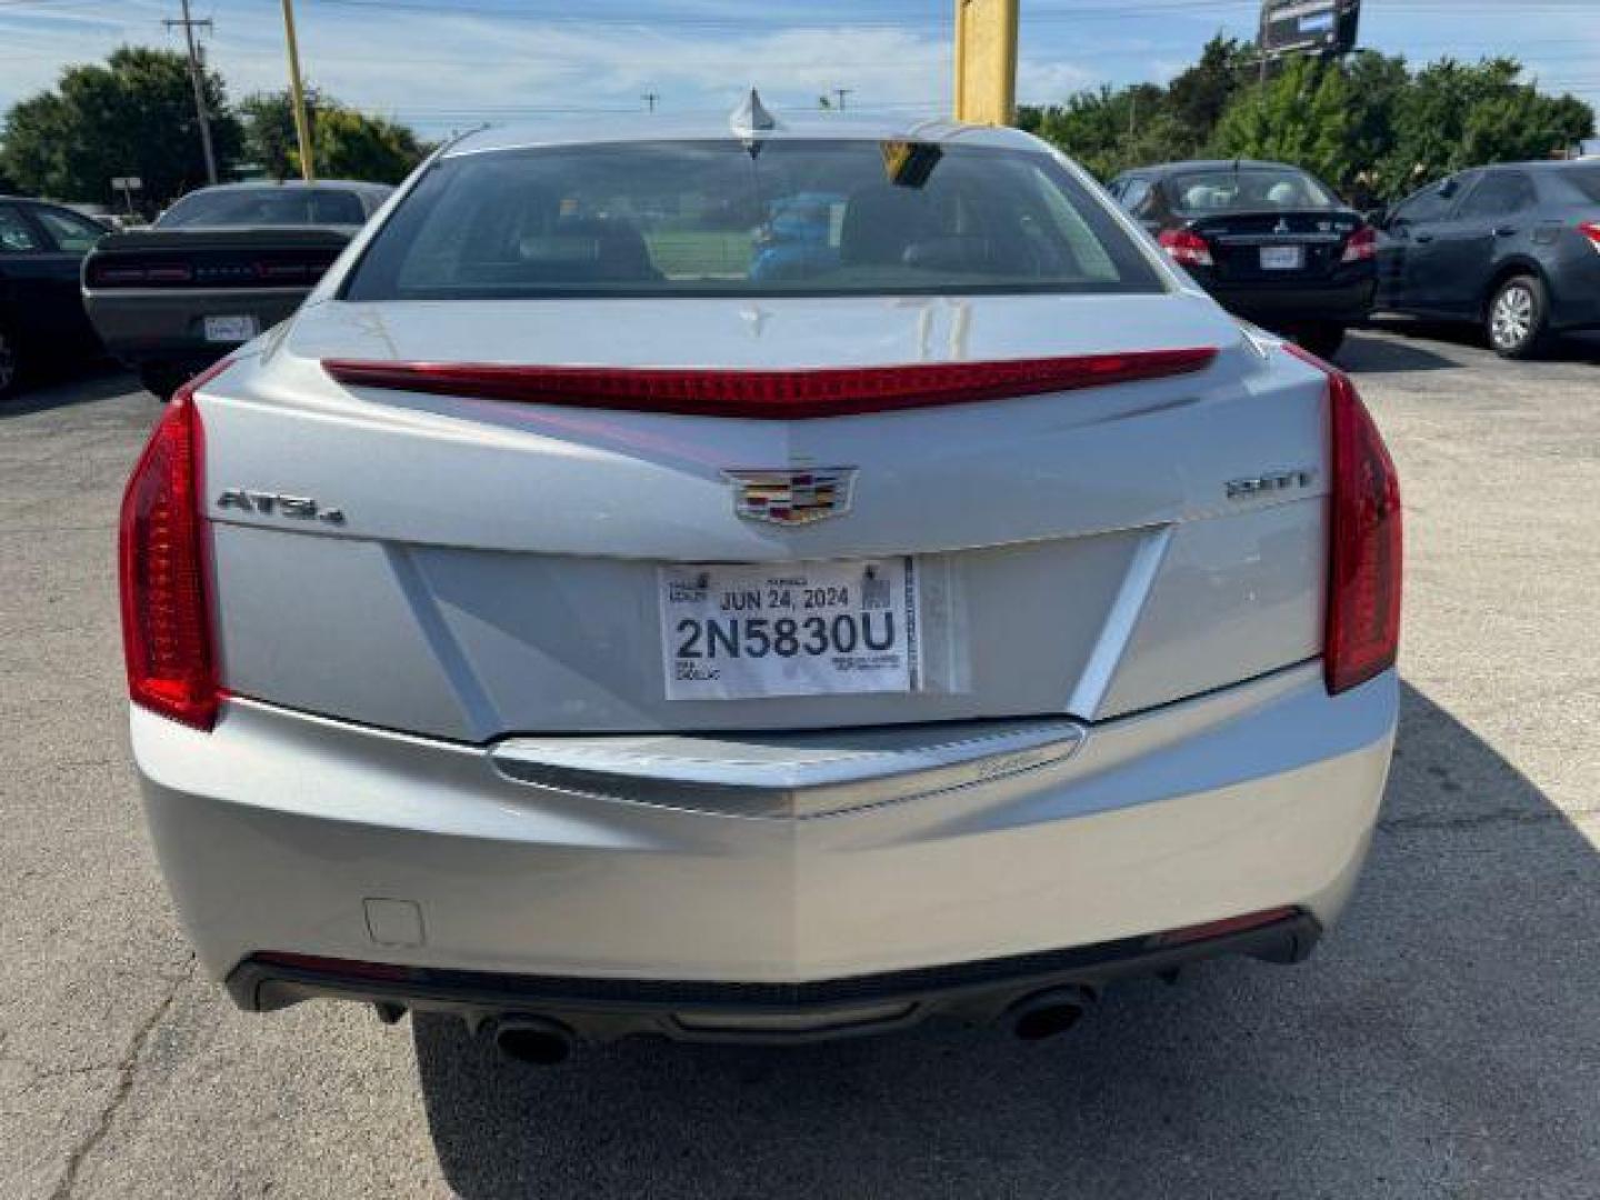
[[[190,0],[235,98],[283,86],[278,0]],[[773,107],[850,88],[862,109],[944,112],[954,0],[296,0],[309,82],[429,136],[562,110]],[[179,0],[0,0],[0,107],[123,42],[179,46]],[[1518,56],[1600,107],[1600,0],[1368,0],[1362,43],[1413,61]],[[1163,82],[1258,0],[1022,0],[1019,96]]]

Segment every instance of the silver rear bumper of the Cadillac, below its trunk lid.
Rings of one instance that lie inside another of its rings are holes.
[[[1307,664],[1094,725],[1037,770],[810,818],[578,795],[509,779],[485,747],[243,701],[211,734],[134,710],[133,746],[216,979],[290,952],[797,986],[1274,907],[1326,926],[1366,853],[1395,715],[1392,674],[1330,698]]]

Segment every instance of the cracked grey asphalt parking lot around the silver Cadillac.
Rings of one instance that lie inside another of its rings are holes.
[[[232,1010],[126,754],[112,546],[157,403],[0,410],[0,1197],[1600,1195],[1600,342],[1352,339],[1405,483],[1398,758],[1294,970],[1110,994],[1064,1038],[619,1045]]]

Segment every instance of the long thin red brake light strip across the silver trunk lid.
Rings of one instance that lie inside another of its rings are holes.
[[[347,358],[330,358],[322,366],[339,382],[358,387],[389,387],[475,400],[792,421],[1006,400],[1138,379],[1162,379],[1198,371],[1213,358],[1216,358],[1214,347],[1200,347],[1094,354],[1078,358],[794,371],[502,366]]]

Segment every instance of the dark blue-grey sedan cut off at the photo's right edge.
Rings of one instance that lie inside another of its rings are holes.
[[[1379,309],[1482,323],[1507,358],[1600,328],[1600,163],[1475,168],[1376,219]]]

